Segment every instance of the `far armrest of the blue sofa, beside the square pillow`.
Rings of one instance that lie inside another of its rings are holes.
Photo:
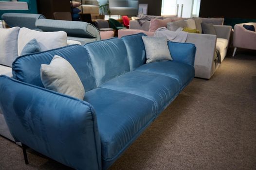
[[[168,47],[173,61],[194,66],[197,50],[194,44],[168,41]]]

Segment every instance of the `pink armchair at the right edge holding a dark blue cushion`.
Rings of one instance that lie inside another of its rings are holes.
[[[256,50],[256,32],[246,30],[243,24],[254,25],[256,28],[256,23],[253,22],[235,25],[233,35],[233,47],[235,47],[235,49],[233,57],[236,54],[237,48]]]

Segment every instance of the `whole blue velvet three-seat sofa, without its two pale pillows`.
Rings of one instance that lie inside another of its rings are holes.
[[[106,170],[195,75],[193,44],[168,42],[172,61],[146,64],[142,36],[112,38],[20,56],[0,76],[0,108],[12,136],[79,170]],[[84,100],[47,90],[40,65],[68,60]]]

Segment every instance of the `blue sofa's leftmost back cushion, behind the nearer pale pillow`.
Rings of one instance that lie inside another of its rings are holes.
[[[54,55],[59,55],[70,62],[84,85],[85,91],[95,88],[88,52],[80,45],[18,57],[13,63],[13,77],[25,83],[44,87],[40,78],[41,64],[50,64]]]

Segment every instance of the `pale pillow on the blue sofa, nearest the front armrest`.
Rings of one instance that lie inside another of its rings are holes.
[[[84,86],[72,65],[64,58],[55,55],[49,65],[42,64],[40,76],[46,89],[84,99]]]

